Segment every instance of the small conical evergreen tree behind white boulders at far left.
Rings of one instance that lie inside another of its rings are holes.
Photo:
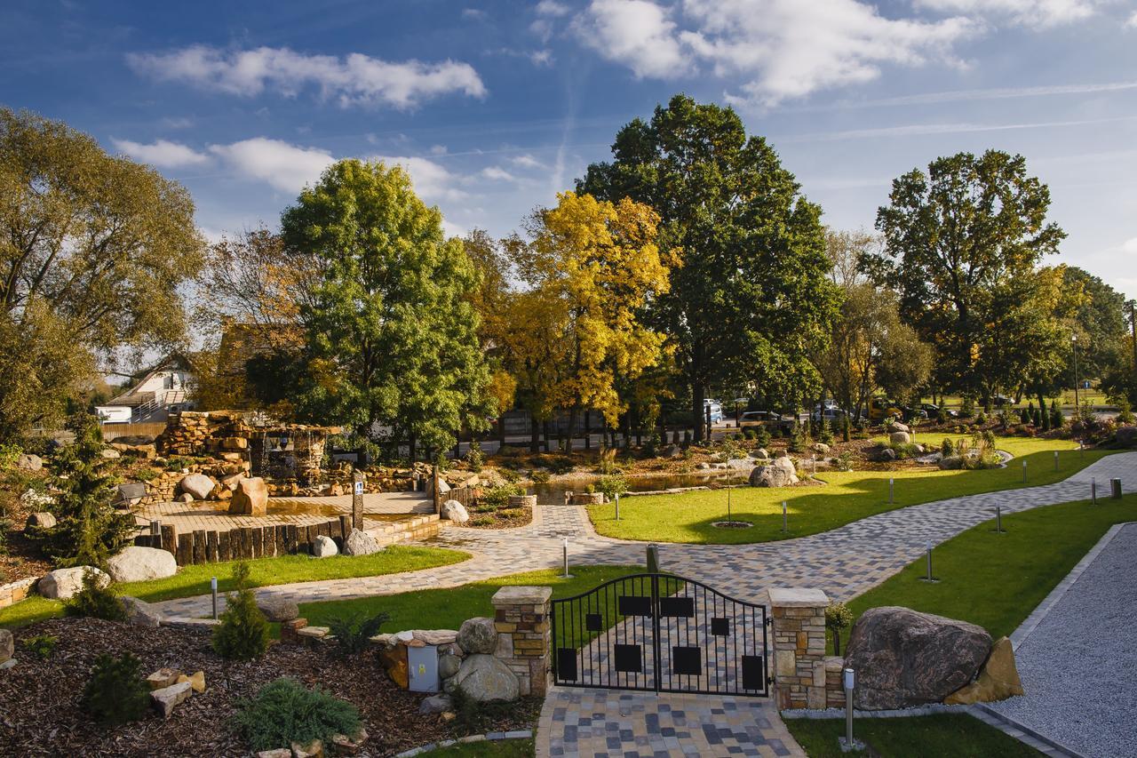
[[[127,543],[134,517],[111,505],[114,477],[105,470],[98,419],[77,413],[67,428],[75,442],[55,455],[57,524],[44,535],[44,552],[60,566],[102,566]]]

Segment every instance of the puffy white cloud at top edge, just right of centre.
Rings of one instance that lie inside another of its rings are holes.
[[[640,77],[670,77],[690,68],[675,22],[648,0],[592,0],[574,23],[581,41]]]

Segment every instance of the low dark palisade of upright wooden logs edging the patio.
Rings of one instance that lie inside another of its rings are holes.
[[[343,537],[350,533],[350,516],[341,516],[323,524],[277,524],[239,527],[226,532],[200,529],[185,534],[177,534],[173,526],[161,525],[160,534],[139,535],[134,537],[134,544],[167,550],[173,553],[179,566],[190,566],[310,553],[312,542],[319,535],[331,537],[342,547]]]

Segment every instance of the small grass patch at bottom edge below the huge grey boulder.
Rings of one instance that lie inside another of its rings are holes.
[[[810,758],[872,755],[843,753],[837,738],[845,734],[840,718],[787,718],[786,727]],[[1003,734],[966,714],[937,714],[907,718],[858,718],[853,736],[866,742],[882,758],[1027,758],[1034,748]]]

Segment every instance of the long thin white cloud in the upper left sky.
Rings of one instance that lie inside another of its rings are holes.
[[[478,72],[454,60],[392,63],[358,52],[340,58],[304,55],[288,48],[225,51],[199,44],[165,53],[131,53],[127,61],[158,81],[188,82],[243,97],[266,89],[296,97],[305,88],[316,86],[321,97],[334,98],[341,106],[384,104],[410,108],[451,92],[485,94]]]

